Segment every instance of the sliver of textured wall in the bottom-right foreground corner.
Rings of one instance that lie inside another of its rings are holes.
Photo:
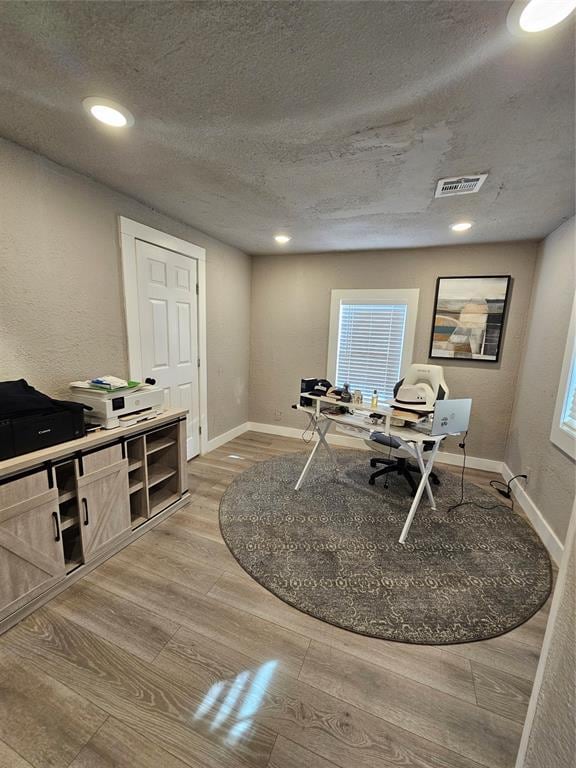
[[[576,516],[576,506],[573,515]],[[576,520],[564,551],[550,611],[548,653],[540,661],[542,684],[535,689],[534,718],[517,768],[573,768],[576,755]],[[547,637],[548,639],[548,637]],[[544,644],[546,647],[546,642]],[[524,741],[524,739],[523,739]]]

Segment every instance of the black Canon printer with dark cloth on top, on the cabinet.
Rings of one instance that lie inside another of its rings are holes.
[[[0,381],[0,459],[84,437],[84,409],[54,400],[24,379]]]

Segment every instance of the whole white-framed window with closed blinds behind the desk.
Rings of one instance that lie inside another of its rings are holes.
[[[412,362],[417,289],[332,291],[327,378],[380,400]]]

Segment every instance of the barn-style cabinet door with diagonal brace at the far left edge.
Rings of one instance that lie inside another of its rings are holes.
[[[0,616],[66,575],[58,491],[45,472],[0,487]]]

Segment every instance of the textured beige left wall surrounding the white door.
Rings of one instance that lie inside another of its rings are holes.
[[[119,215],[206,248],[209,437],[247,418],[250,258],[0,140],[0,379],[128,375]]]

